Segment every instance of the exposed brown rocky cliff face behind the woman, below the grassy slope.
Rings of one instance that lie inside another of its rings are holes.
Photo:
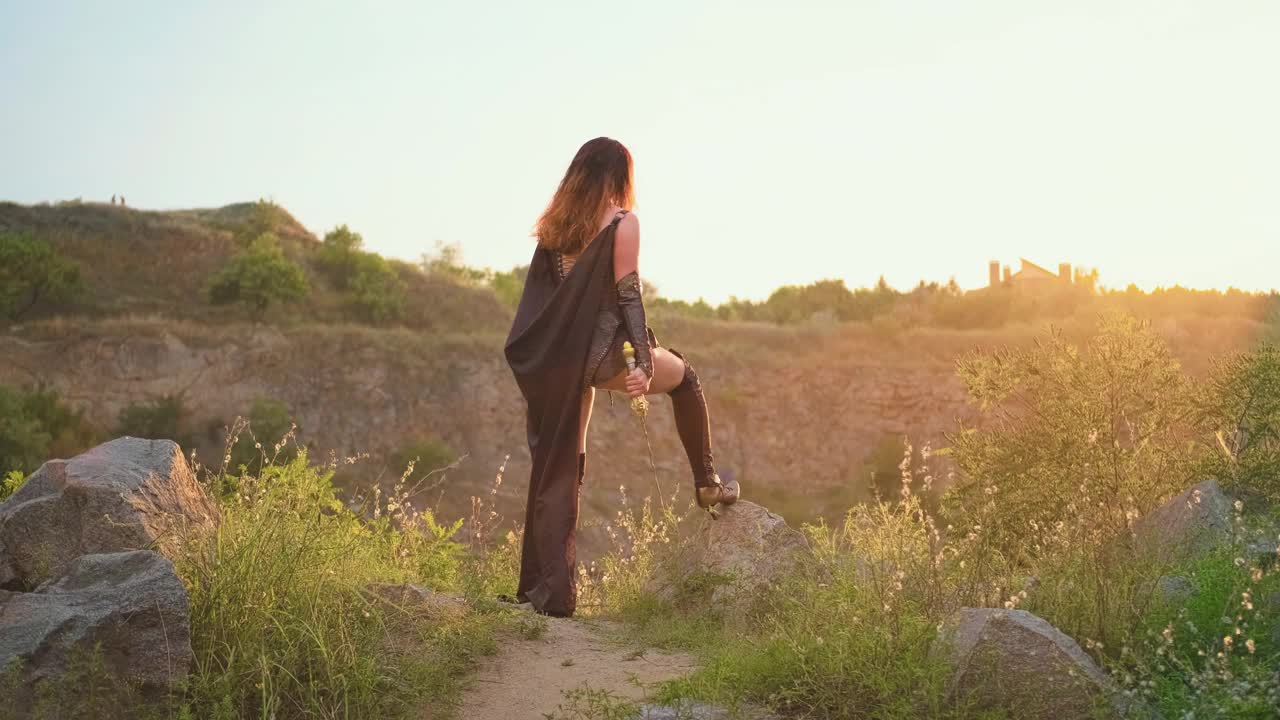
[[[941,441],[956,416],[973,414],[950,359],[886,359],[883,347],[858,351],[863,341],[845,342],[838,352],[796,345],[756,357],[727,343],[686,343],[707,388],[718,468],[744,483],[746,497],[838,512],[815,503],[851,483],[886,434]],[[364,482],[380,471],[398,475],[383,470],[396,448],[439,438],[467,456],[428,500],[447,516],[465,515],[470,496],[489,488],[509,454],[498,511],[522,516],[530,469],[524,402],[493,333],[120,319],[19,331],[0,336],[0,383],[49,383],[104,430],[123,407],[150,397],[183,393],[201,428],[227,424],[255,398],[270,397],[296,415],[314,457],[369,452],[355,466]],[[666,397],[654,398],[648,429],[663,489],[678,486],[687,501],[692,480]],[[613,516],[620,486],[632,497],[653,487],[639,419],[622,396],[611,404],[599,393],[589,437],[586,548],[603,539],[598,525]]]

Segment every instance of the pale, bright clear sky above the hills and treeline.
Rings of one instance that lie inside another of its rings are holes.
[[[0,200],[265,197],[509,269],[603,135],[668,297],[1019,258],[1270,290],[1277,38],[1270,0],[0,0]]]

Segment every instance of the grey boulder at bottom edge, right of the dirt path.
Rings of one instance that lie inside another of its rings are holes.
[[[1119,688],[1080,646],[1025,610],[961,609],[942,641],[954,703],[1027,720],[1124,715]]]

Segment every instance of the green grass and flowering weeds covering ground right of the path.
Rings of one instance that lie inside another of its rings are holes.
[[[963,606],[1021,606],[1074,634],[1157,716],[1274,717],[1280,603],[1261,598],[1280,597],[1274,594],[1280,593],[1280,559],[1254,562],[1243,553],[1257,539],[1252,528],[1270,528],[1271,515],[1240,514],[1231,546],[1180,565],[1073,562],[1059,553],[1010,577],[998,562],[975,565],[986,548],[933,523],[910,492],[928,468],[906,468],[915,477],[906,479],[901,498],[855,506],[838,525],[805,525],[812,561],[781,579],[750,615],[696,602],[724,580],[709,574],[694,574],[672,601],[648,592],[652,569],[690,538],[680,516],[649,512],[646,503],[632,507],[604,561],[608,582],[593,588],[600,612],[622,620],[634,642],[678,648],[701,661],[691,675],[653,688],[652,700],[712,702],[731,711],[763,706],[786,717],[998,719],[998,711],[947,697],[950,669],[938,628]],[[1190,578],[1196,592],[1161,602],[1155,597],[1160,574]],[[1129,603],[1112,606],[1107,642],[1097,639],[1097,596],[1088,591],[1100,585],[1111,585],[1107,597]],[[617,712],[599,693],[572,700],[566,707],[577,715],[567,717]]]

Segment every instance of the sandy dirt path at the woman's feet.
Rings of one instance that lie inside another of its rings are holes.
[[[616,625],[604,620],[548,618],[538,639],[512,635],[481,662],[462,696],[458,720],[541,719],[566,702],[563,691],[608,689],[640,700],[640,683],[686,675],[692,657],[620,644]]]

